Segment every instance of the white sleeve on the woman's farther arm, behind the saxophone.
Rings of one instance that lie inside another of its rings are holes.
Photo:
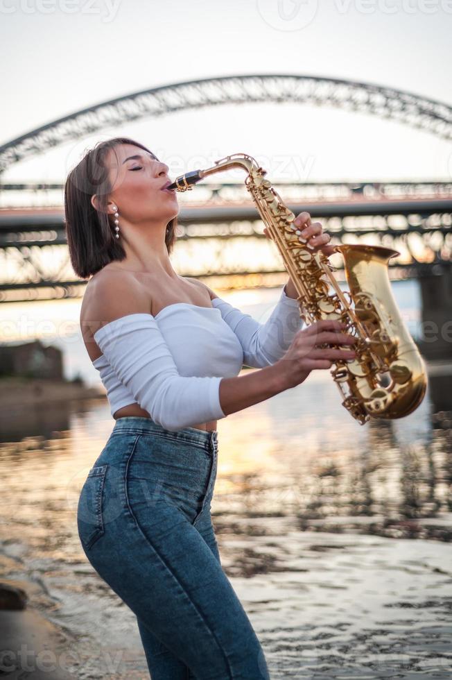
[[[221,316],[234,331],[243,349],[243,363],[252,368],[271,366],[284,356],[297,331],[303,328],[299,303],[289,298],[284,289],[266,323],[259,323],[250,314],[243,314],[222,298],[213,298]]]

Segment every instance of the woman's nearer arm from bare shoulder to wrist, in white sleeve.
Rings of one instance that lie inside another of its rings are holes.
[[[287,389],[293,375],[285,365],[230,378],[180,375],[148,296],[133,278],[126,283],[117,273],[92,281],[84,325],[119,380],[162,427],[173,431],[225,418]]]

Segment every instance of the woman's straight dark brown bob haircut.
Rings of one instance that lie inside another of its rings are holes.
[[[113,137],[98,142],[85,153],[67,176],[64,185],[64,230],[73,271],[80,278],[89,278],[114,260],[123,260],[125,250],[116,239],[114,225],[107,214],[107,196],[112,191],[105,158],[118,144],[133,144],[153,153],[144,144],[128,137]],[[114,152],[116,153],[116,152]],[[99,210],[91,197],[98,196]],[[176,241],[177,217],[166,226],[165,244],[168,255]]]

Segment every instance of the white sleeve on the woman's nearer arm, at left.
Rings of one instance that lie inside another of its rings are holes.
[[[141,408],[166,430],[225,418],[222,377],[179,375],[152,314],[128,314],[106,323],[94,340]]]

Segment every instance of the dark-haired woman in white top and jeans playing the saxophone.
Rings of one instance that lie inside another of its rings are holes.
[[[302,329],[290,280],[261,325],[178,275],[170,183],[168,167],[124,137],[96,145],[67,178],[71,262],[91,277],[82,336],[116,421],[82,487],[78,533],[137,616],[153,680],[266,679],[211,524],[217,420],[352,359],[354,339],[338,322]],[[297,226],[330,252],[308,213]],[[261,370],[239,376],[243,364]]]

